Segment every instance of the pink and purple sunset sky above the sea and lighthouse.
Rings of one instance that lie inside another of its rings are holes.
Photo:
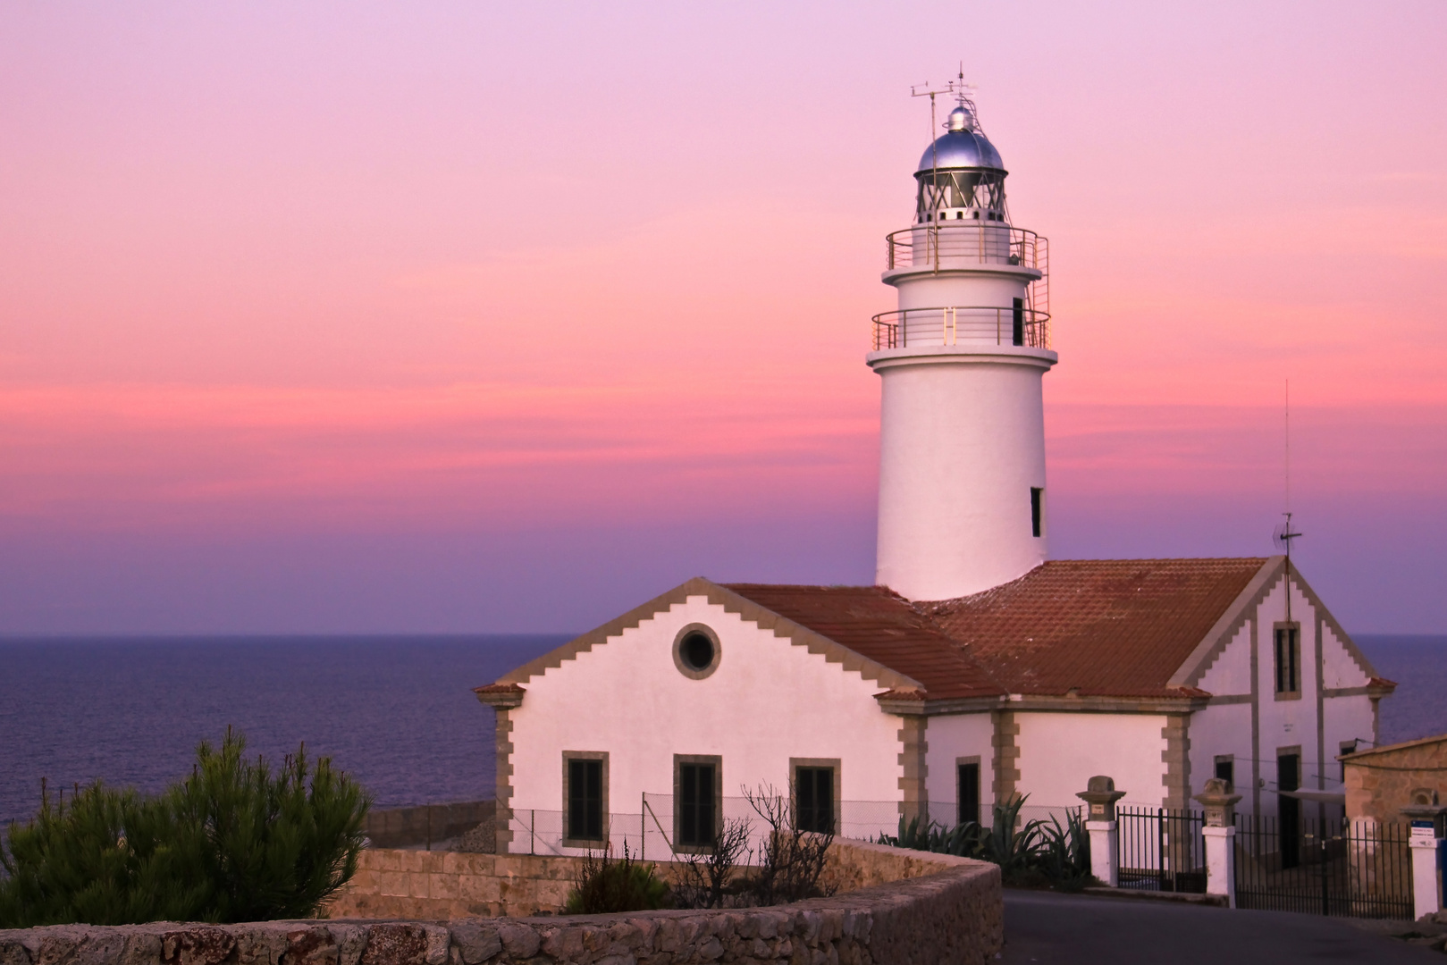
[[[870,583],[958,72],[1049,237],[1052,556],[1447,631],[1447,6],[17,4],[0,634],[569,632]]]

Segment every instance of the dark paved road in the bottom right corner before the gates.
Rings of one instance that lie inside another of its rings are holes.
[[[1003,962],[1027,965],[1447,965],[1447,955],[1314,914],[1004,893]]]

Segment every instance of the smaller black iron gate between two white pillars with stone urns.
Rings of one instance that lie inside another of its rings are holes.
[[[1201,812],[1117,807],[1120,887],[1205,893]]]

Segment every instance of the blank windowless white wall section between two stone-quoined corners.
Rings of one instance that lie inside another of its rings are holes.
[[[1097,774],[1114,778],[1124,804],[1160,807],[1166,719],[1155,713],[1017,713],[1019,790],[1036,807],[1075,807]]]

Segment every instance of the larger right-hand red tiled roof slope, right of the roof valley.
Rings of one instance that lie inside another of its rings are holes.
[[[1010,693],[1189,696],[1172,676],[1268,563],[1051,560],[919,606]]]

